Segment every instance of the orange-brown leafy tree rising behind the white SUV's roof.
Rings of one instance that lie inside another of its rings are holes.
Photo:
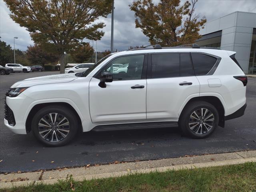
[[[196,2],[180,5],[180,0],[160,0],[158,4],[152,0],[134,0],[129,6],[135,12],[136,28],[142,29],[151,44],[177,46],[200,38],[198,32],[204,28],[206,18],[199,19],[195,14]]]

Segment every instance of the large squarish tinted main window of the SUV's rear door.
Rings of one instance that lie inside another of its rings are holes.
[[[180,76],[180,54],[152,54],[152,78]]]

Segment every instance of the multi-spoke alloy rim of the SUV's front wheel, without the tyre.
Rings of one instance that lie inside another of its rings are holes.
[[[68,119],[60,113],[49,113],[38,123],[39,135],[48,142],[64,140],[70,132]]]

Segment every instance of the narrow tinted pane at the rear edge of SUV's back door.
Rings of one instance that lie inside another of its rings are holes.
[[[189,53],[180,54],[180,76],[193,76],[192,62]]]

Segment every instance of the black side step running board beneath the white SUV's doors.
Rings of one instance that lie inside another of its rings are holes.
[[[130,123],[130,124],[113,124],[98,125],[93,131],[112,131],[112,130],[133,130],[133,129],[149,129],[149,128],[167,128],[178,127],[178,122],[150,122],[150,123]]]

